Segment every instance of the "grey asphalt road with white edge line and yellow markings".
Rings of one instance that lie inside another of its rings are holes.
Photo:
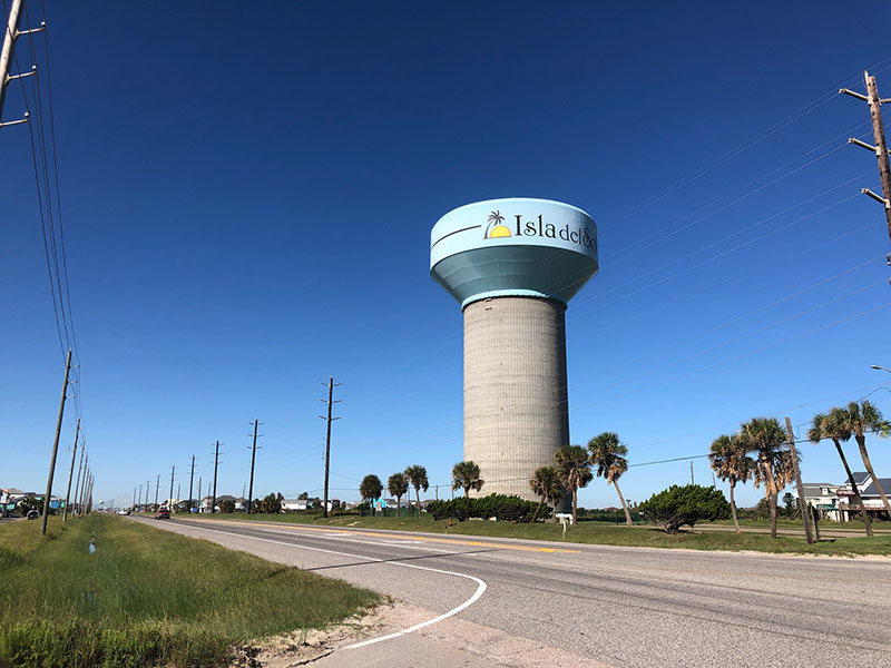
[[[341,647],[319,666],[891,666],[889,559],[154,524],[405,602],[403,618],[378,637],[458,609],[408,633]]]

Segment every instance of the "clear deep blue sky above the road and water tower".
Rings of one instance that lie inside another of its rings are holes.
[[[567,314],[574,442],[617,431],[631,464],[703,454],[748,418],[806,430],[891,381],[870,370],[891,366],[889,239],[859,195],[879,190],[875,159],[845,146],[871,143],[869,115],[834,95],[871,68],[891,96],[891,51],[863,38],[887,3],[47,11],[97,500],[172,465],[186,488],[193,454],[206,490],[216,440],[218,492],[241,494],[255,418],[255,495],[320,490],[332,374],[333,495],[412,463],[448,484],[461,314],[429,277],[429,234],[478,199],[564,200],[598,224],[601,272]],[[4,119],[21,110],[13,89]],[[39,490],[63,360],[28,132],[0,145],[0,485]],[[891,392],[871,399],[891,414]],[[831,445],[802,451],[805,480],[842,481]],[[688,480],[681,461],[621,484],[638,501]],[[579,503],[616,498],[596,480]]]

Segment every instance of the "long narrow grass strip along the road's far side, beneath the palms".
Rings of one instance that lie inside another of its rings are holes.
[[[180,515],[182,517],[182,515]],[[202,515],[209,519],[210,515]],[[433,533],[449,533],[461,536],[491,536],[499,538],[525,538],[533,540],[562,540],[562,528],[559,524],[541,523],[513,524],[511,522],[486,522],[470,520],[454,522],[449,527],[448,520],[433,520],[430,515],[393,518],[393,517],[359,517],[340,515],[329,519],[316,518],[312,514],[284,513],[272,515],[246,515],[244,513],[213,515],[216,520],[248,520],[273,521],[285,523],[302,523],[315,525],[334,525],[365,529],[390,529],[395,531],[429,531]],[[686,529],[686,528],[685,528]],[[571,542],[591,543],[601,546],[626,546],[646,548],[679,548],[688,550],[753,550],[773,553],[807,553],[851,557],[856,554],[891,556],[891,536],[877,536],[874,538],[840,538],[824,540],[817,544],[809,546],[803,538],[780,537],[772,539],[761,533],[734,533],[728,527],[724,531],[684,531],[675,536],[654,529],[652,527],[626,527],[608,522],[579,522],[577,527],[569,527],[566,540]]]

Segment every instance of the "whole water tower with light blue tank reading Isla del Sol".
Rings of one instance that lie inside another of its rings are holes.
[[[433,226],[430,275],[464,314],[464,460],[482,494],[537,500],[529,479],[569,443],[564,315],[597,269],[597,227],[568,204],[489,199]]]

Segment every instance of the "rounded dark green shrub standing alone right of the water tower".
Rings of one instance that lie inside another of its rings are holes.
[[[703,520],[726,520],[731,517],[731,504],[724,494],[714,488],[698,484],[673,484],[667,490],[653,494],[638,510],[666,533],[675,533],[683,524],[693,527]]]

